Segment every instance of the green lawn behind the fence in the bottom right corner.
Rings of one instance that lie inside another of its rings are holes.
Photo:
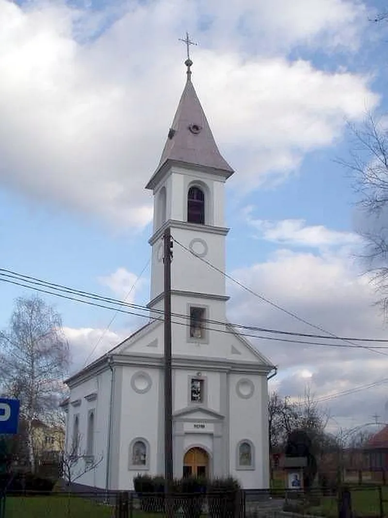
[[[379,492],[376,488],[360,488],[351,491],[352,510],[355,516],[379,516],[380,515],[380,499]],[[384,513],[388,512],[388,487],[383,487],[383,503]],[[337,498],[322,497],[321,505],[318,507],[310,507],[308,512],[316,516],[337,517]]]

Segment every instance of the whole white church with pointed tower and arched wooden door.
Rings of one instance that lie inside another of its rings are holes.
[[[77,441],[78,471],[97,464],[77,480],[84,486],[131,490],[138,473],[164,471],[160,311],[162,236],[170,227],[187,249],[174,243],[171,265],[172,314],[186,316],[172,319],[174,477],[232,476],[244,488],[269,487],[267,379],[274,366],[228,324],[225,276],[206,264],[225,271],[225,182],[233,170],[217,148],[191,65],[146,185],[154,196],[150,320],[66,381],[67,451]]]

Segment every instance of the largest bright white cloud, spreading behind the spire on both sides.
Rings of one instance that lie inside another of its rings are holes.
[[[87,9],[0,0],[0,181],[126,226],[150,221],[143,187],[183,88],[176,39],[186,22],[206,17],[193,78],[220,148],[239,171],[233,181],[251,189],[286,175],[308,151],[331,145],[345,119],[362,118],[377,102],[367,78],[291,62],[284,49],[285,42],[353,48],[363,6],[292,6],[159,0],[115,7],[117,21],[103,31],[107,19]],[[272,35],[274,54],[247,54],[256,34]]]

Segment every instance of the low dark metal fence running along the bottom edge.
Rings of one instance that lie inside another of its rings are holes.
[[[245,490],[233,493],[9,492],[4,518],[388,518],[388,487],[321,488],[309,492]],[[0,518],[3,518],[0,512]]]

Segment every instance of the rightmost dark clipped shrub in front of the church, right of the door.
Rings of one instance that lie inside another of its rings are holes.
[[[240,516],[241,486],[229,477],[214,479],[207,484],[207,503],[212,518],[235,518]]]

